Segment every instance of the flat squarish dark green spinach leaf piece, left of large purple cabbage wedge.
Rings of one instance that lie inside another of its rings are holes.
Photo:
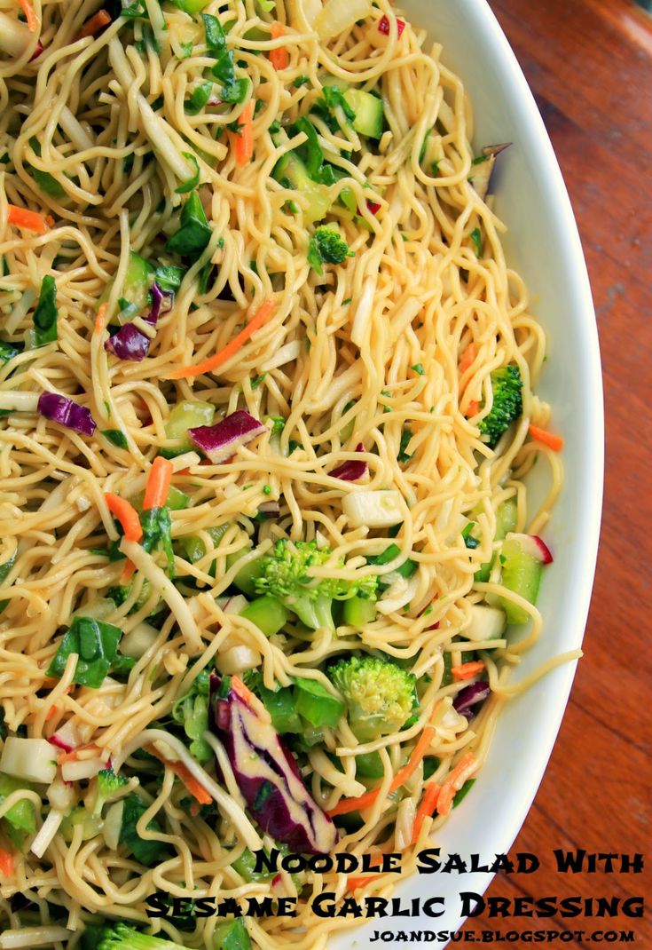
[[[90,617],[74,618],[47,668],[47,675],[62,676],[68,656],[77,654],[73,683],[99,689],[111,669],[120,638],[120,628],[111,623]]]

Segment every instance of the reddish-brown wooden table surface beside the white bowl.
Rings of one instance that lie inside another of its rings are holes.
[[[543,114],[584,243],[603,359],[606,472],[586,656],[512,849],[538,853],[546,867],[531,877],[498,875],[486,896],[649,898],[648,871],[560,874],[551,852],[643,852],[652,840],[652,16],[630,0],[490,3]],[[483,930],[530,927],[633,930],[634,946],[652,947],[649,916],[622,913],[548,920],[485,913],[463,933],[475,942]],[[564,946],[587,945],[568,936]]]

